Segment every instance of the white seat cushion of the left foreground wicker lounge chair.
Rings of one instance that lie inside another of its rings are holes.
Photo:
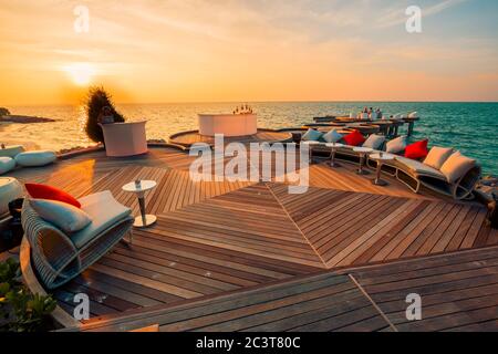
[[[79,249],[132,214],[132,210],[117,202],[108,190],[80,198],[79,201],[81,209],[92,219],[86,228],[71,236]]]

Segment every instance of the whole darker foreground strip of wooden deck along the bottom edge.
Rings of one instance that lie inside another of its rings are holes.
[[[478,261],[477,261],[478,260]],[[184,304],[94,320],[83,331],[498,331],[498,248],[328,271]],[[422,320],[405,315],[407,294]]]

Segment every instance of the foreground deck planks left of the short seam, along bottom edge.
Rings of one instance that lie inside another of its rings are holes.
[[[361,322],[362,319],[369,322]],[[375,321],[373,321],[375,320]],[[320,274],[264,288],[154,309],[126,317],[91,321],[85,331],[124,331],[159,324],[160,331],[309,331],[388,327],[345,275]]]

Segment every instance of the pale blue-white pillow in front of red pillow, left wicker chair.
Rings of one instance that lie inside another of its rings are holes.
[[[90,216],[85,211],[66,202],[30,199],[30,205],[42,219],[55,225],[65,233],[80,231],[91,222]]]

